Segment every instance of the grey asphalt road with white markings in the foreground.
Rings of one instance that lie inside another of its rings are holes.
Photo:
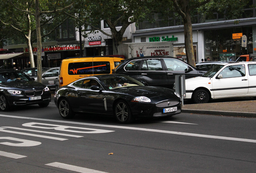
[[[1,173],[253,173],[256,119],[181,113],[122,125],[54,103],[0,112]]]

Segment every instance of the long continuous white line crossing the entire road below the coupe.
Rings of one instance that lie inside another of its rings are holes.
[[[174,134],[174,135],[185,135],[185,136],[204,137],[204,138],[211,138],[211,139],[223,139],[223,140],[229,140],[229,141],[241,141],[241,142],[256,143],[255,139],[243,139],[243,138],[222,137],[222,136],[213,136],[213,135],[201,135],[201,134],[196,134],[196,133],[164,131],[164,130],[145,129],[145,128],[138,128],[138,127],[125,127],[125,126],[115,126],[115,125],[101,125],[101,124],[92,124],[92,123],[79,123],[79,122],[74,122],[74,121],[39,119],[39,118],[31,118],[31,117],[18,117],[18,116],[12,116],[12,115],[0,115],[0,117],[9,117],[9,118],[18,118],[18,119],[30,119],[30,120],[49,121],[49,122],[58,122],[58,123],[69,123],[69,124],[88,125],[88,126],[97,126],[97,127],[109,127],[109,128],[117,128],[117,129],[129,129],[129,130],[138,130],[138,131],[151,131],[151,132],[158,132],[158,133],[169,133],[169,134]]]

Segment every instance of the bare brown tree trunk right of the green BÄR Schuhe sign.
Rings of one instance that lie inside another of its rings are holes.
[[[196,66],[196,61],[194,58],[194,47],[193,47],[193,34],[192,34],[192,22],[190,14],[186,14],[184,20],[184,38],[185,38],[185,49],[188,64]]]

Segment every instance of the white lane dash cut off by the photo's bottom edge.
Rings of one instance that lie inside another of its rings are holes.
[[[61,169],[67,169],[70,171],[76,171],[76,172],[80,172],[80,173],[106,173],[106,172],[97,171],[94,169],[88,169],[88,168],[84,168],[84,167],[78,167],[78,166],[68,165],[68,164],[59,163],[59,162],[48,163],[45,165],[52,166],[52,167],[58,167]]]

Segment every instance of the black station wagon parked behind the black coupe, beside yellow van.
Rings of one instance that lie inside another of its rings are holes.
[[[186,78],[202,76],[206,71],[196,70],[186,62],[171,56],[144,56],[122,60],[113,70],[126,74],[146,85],[172,89],[175,75],[186,74]]]

